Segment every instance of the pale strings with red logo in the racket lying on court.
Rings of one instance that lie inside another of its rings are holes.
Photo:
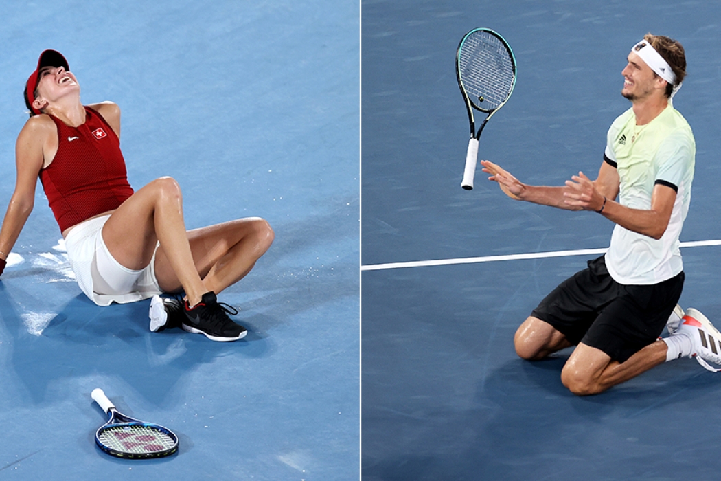
[[[109,426],[97,438],[110,449],[128,454],[166,451],[176,444],[167,433],[150,425]]]

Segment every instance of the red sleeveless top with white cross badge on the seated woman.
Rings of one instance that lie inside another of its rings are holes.
[[[112,211],[133,195],[120,139],[105,119],[85,107],[77,128],[50,115],[58,127],[58,153],[40,170],[45,195],[61,231]]]

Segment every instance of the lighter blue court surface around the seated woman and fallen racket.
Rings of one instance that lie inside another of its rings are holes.
[[[61,51],[84,103],[123,111],[136,189],[169,175],[188,228],[267,219],[275,243],[219,296],[244,340],[151,333],[149,301],[74,283],[38,187],[0,278],[0,480],[352,480],[359,472],[359,5],[1,1],[0,215],[22,89]],[[102,387],[180,437],[169,459],[102,454]]]

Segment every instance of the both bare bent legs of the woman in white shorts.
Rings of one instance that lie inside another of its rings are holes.
[[[180,186],[162,177],[125,200],[103,227],[102,237],[115,260],[129,269],[146,267],[160,242],[155,259],[160,287],[185,290],[193,306],[206,292],[218,294],[247,275],[273,243],[274,233],[259,218],[186,231]]]

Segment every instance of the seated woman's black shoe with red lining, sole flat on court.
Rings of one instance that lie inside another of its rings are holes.
[[[220,342],[238,340],[248,333],[242,325],[236,324],[228,314],[238,314],[228,304],[222,304],[216,299],[214,292],[206,292],[200,304],[190,307],[187,301],[183,303],[185,320],[182,328],[187,332],[204,334],[210,340]]]

